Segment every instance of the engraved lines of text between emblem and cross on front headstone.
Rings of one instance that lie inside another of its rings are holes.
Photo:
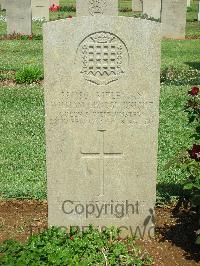
[[[52,108],[56,109],[54,123],[60,120],[72,124],[151,123],[153,101],[141,95],[112,91],[64,91],[62,95],[59,101],[51,103]]]

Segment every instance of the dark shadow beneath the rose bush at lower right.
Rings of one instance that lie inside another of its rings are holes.
[[[166,195],[179,195],[180,200],[172,211],[176,223],[157,227],[162,235],[161,241],[170,241],[185,252],[187,260],[200,262],[200,246],[195,244],[196,231],[200,228],[199,215],[191,209],[187,192],[179,184],[160,184],[159,192],[165,191]]]

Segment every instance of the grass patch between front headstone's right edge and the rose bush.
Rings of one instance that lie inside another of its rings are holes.
[[[169,161],[192,145],[192,128],[183,111],[189,86],[161,86],[157,200],[180,194],[186,178],[181,169],[168,168]]]

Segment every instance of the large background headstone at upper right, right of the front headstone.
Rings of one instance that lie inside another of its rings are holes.
[[[187,0],[162,0],[162,36],[184,39],[186,27]]]

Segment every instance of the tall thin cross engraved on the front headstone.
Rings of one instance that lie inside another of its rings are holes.
[[[107,158],[121,158],[123,153],[122,152],[105,152],[105,143],[104,143],[104,139],[105,139],[105,132],[106,130],[98,130],[98,132],[101,133],[101,151],[100,152],[82,152],[81,154],[83,155],[82,158],[86,158],[86,159],[98,159],[100,160],[101,163],[101,172],[100,172],[100,176],[101,176],[101,183],[102,183],[102,194],[104,195],[105,192],[105,159]]]

